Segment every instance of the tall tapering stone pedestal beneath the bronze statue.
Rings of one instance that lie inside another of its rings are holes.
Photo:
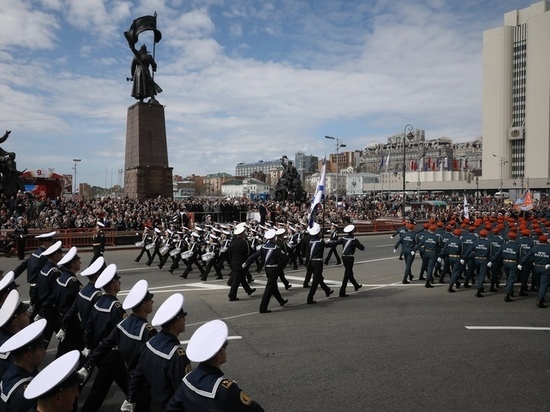
[[[137,102],[128,108],[124,195],[131,199],[173,197],[164,106],[158,103]]]

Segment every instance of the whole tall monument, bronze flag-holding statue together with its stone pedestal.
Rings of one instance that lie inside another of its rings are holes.
[[[153,31],[153,54],[147,46],[136,50],[138,36]],[[124,32],[134,54],[131,65],[131,96],[138,100],[128,108],[126,122],[126,156],[124,165],[124,194],[130,198],[172,197],[172,168],[168,166],[164,106],[156,95],[162,89],[155,83],[155,46],[162,39],[157,30],[157,14],[143,16]],[[148,99],[147,101],[145,101]]]

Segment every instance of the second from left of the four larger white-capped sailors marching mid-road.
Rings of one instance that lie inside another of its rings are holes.
[[[279,305],[284,306],[288,303],[287,299],[283,299],[279,289],[277,288],[277,279],[279,278],[280,268],[284,267],[288,261],[288,256],[275,244],[274,229],[269,229],[265,232],[267,242],[262,245],[261,249],[253,253],[246,260],[245,265],[250,265],[255,259],[261,257],[262,263],[265,264],[265,274],[267,276],[267,284],[265,285],[262,301],[260,302],[260,313],[270,313],[267,308],[271,296],[274,296],[279,302]]]

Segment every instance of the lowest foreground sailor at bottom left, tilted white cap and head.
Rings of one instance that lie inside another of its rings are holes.
[[[37,412],[71,412],[78,399],[81,379],[76,373],[80,352],[57,358],[35,376],[25,389],[27,399],[36,399]]]

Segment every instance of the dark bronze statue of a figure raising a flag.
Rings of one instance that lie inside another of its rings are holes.
[[[153,55],[149,54],[145,45],[136,50],[138,36],[144,31],[152,30],[154,32]],[[162,39],[162,34],[157,30],[157,13],[154,16],[143,16],[135,19],[130,29],[124,32],[124,37],[128,41],[130,50],[134,53],[132,60],[132,77],[127,80],[133,81],[132,97],[142,102],[150,97],[149,102],[158,103],[155,96],[162,92],[162,89],[155,83],[155,72],[157,63],[155,62],[155,45]],[[151,68],[151,71],[149,71]]]

